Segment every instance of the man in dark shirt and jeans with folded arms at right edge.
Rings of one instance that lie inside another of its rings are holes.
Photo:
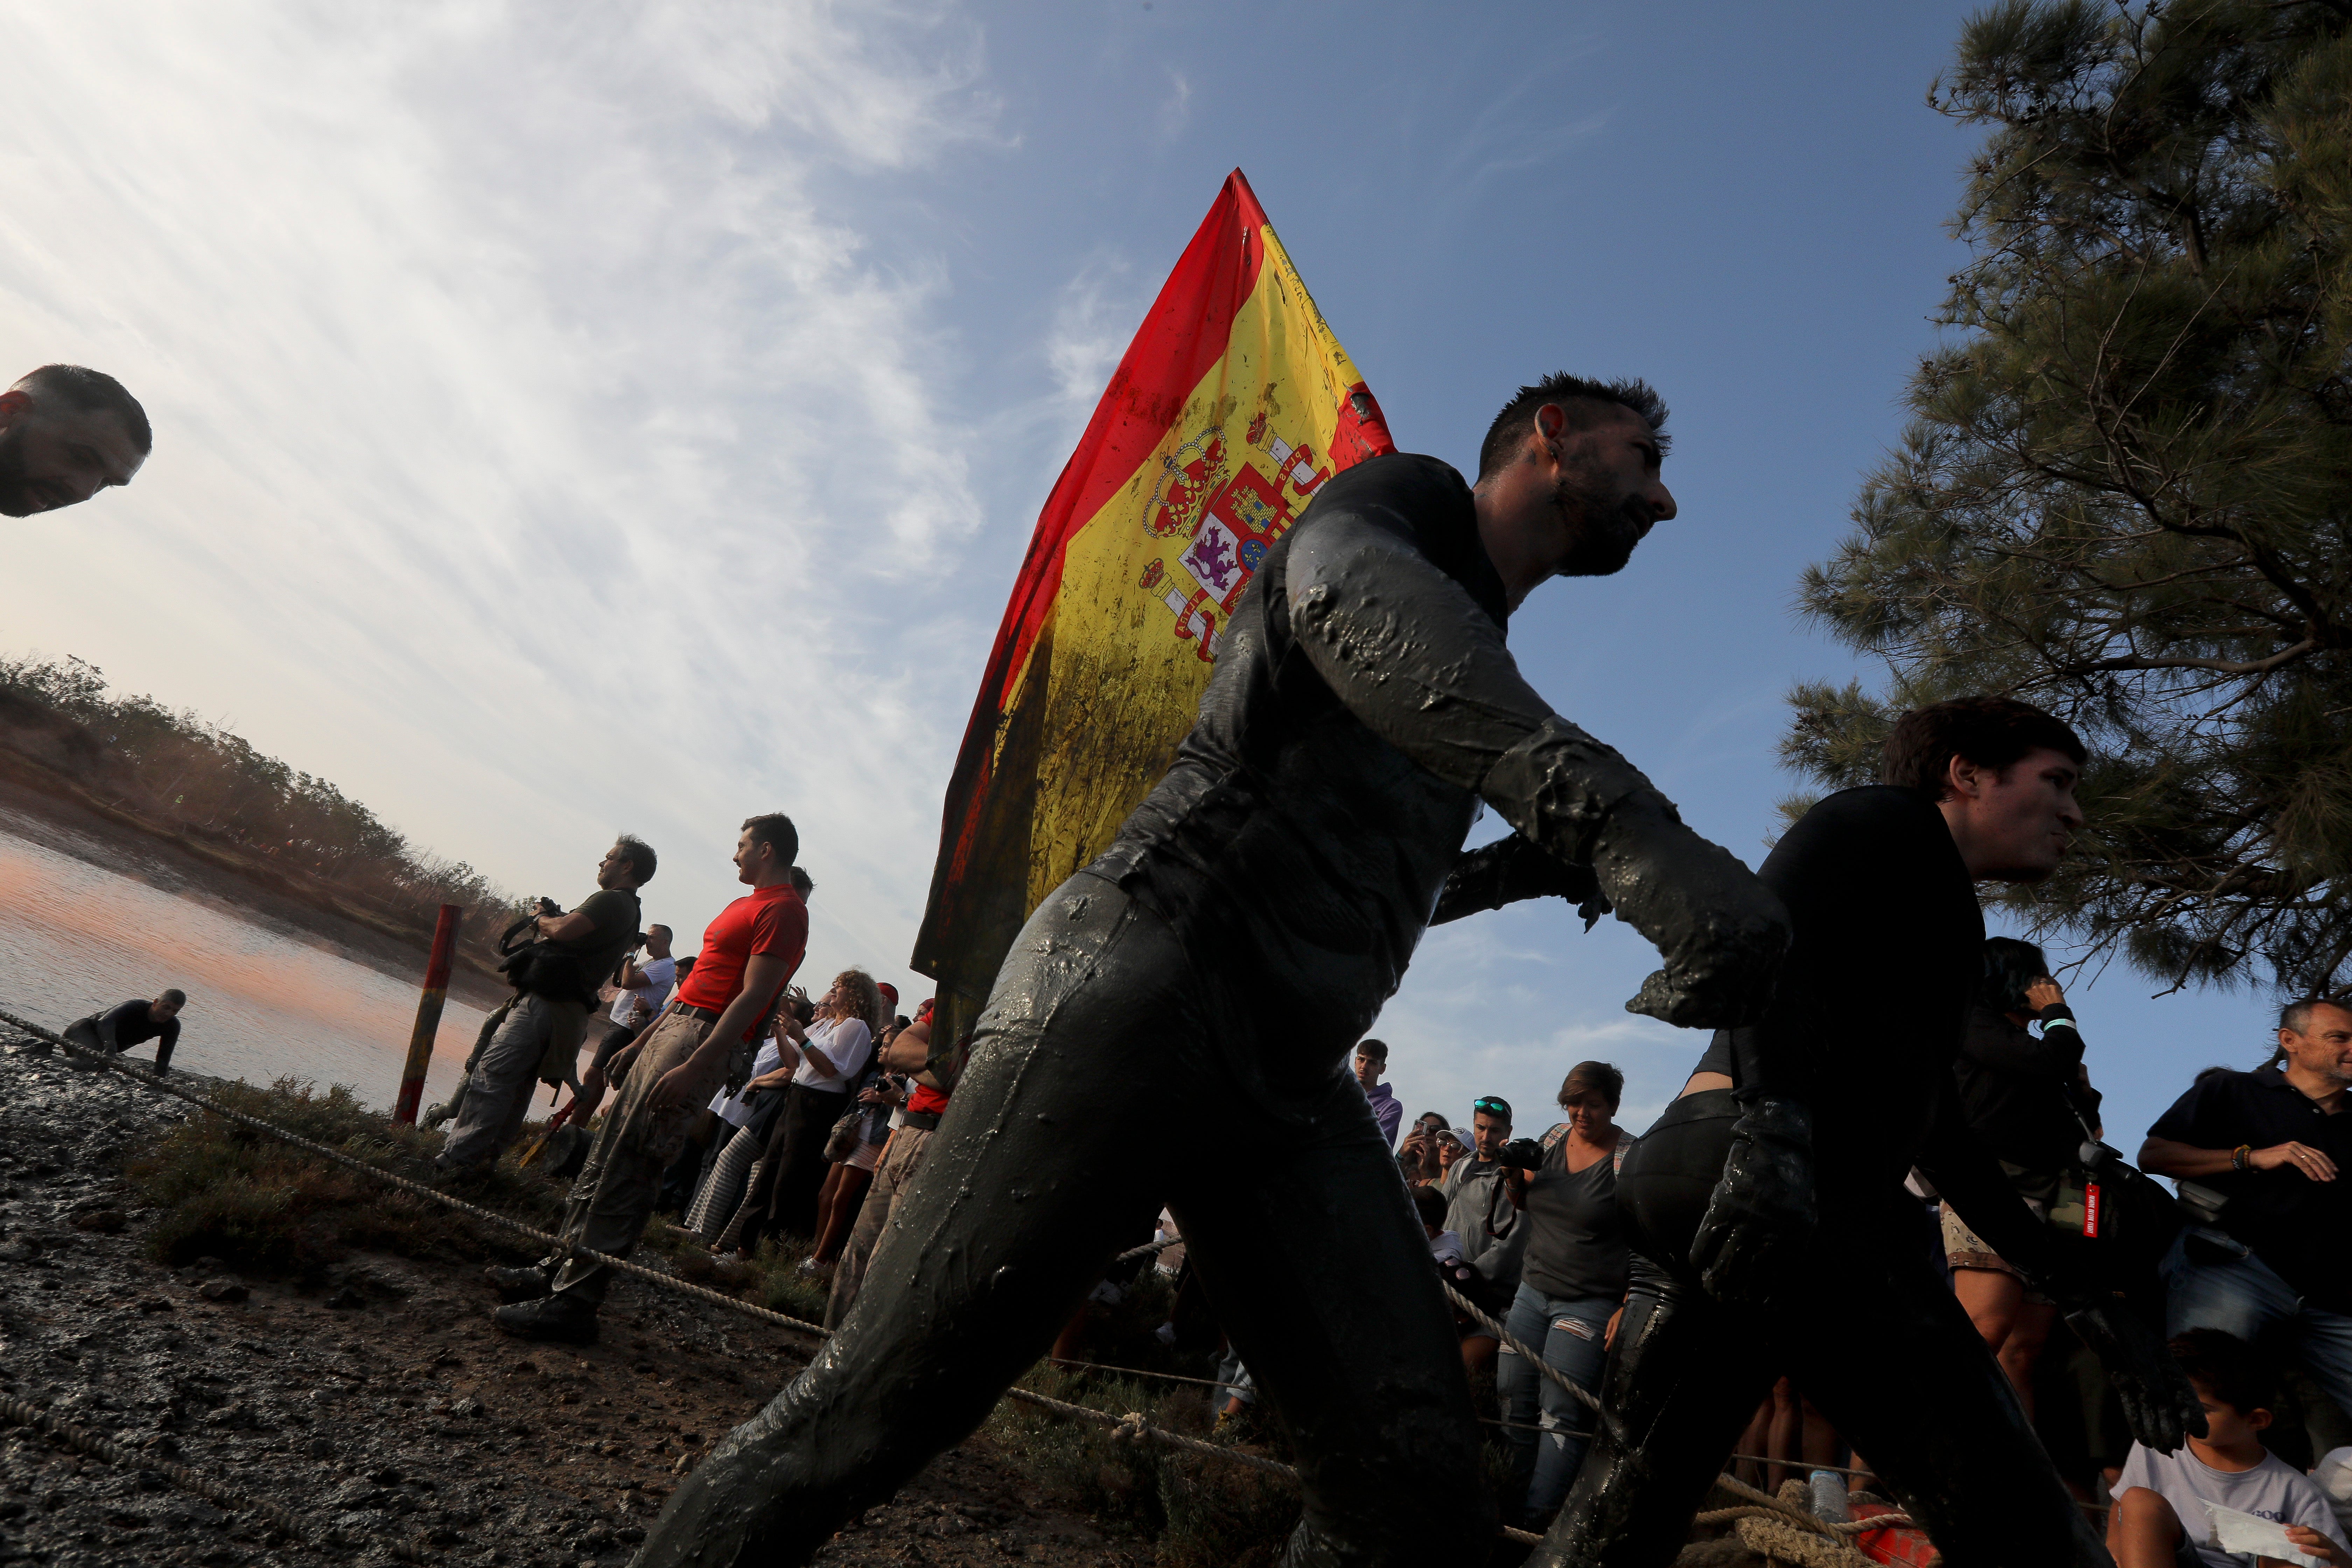
[[[2166,1328],[2284,1340],[2352,1413],[2352,1009],[2288,1001],[2270,1065],[2199,1072],[2140,1166],[2225,1199],[2164,1260]]]

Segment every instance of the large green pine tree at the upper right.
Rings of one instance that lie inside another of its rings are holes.
[[[2171,983],[2352,980],[2352,0],[2027,2],[1931,103],[1987,139],[1943,346],[1804,611],[1879,691],[1783,759],[2006,691],[2093,748],[2039,929]]]

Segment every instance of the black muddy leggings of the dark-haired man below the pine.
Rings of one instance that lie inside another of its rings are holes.
[[[1736,1117],[1729,1091],[1686,1095],[1625,1157],[1632,1288],[1602,1436],[1529,1563],[1675,1561],[1757,1401],[1790,1375],[1952,1568],[2112,1568],[1900,1190],[1825,1204],[1813,1255],[1766,1312],[1726,1312],[1698,1286],[1691,1239]]]

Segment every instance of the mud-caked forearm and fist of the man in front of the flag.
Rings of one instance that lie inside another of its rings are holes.
[[[1764,1016],[1788,910],[1729,849],[1691,832],[1642,769],[1550,717],[1496,759],[1479,792],[1555,858],[1590,865],[1616,917],[1658,947],[1665,969],[1628,1011],[1693,1030]]]

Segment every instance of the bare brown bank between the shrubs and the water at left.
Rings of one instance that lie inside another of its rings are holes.
[[[21,759],[5,757],[5,762]],[[0,832],[14,832],[61,856],[179,898],[221,905],[240,919],[336,952],[390,980],[419,987],[423,983],[426,940],[386,924],[355,919],[339,907],[322,907],[318,898],[292,882],[268,886],[252,875],[240,875],[221,851],[198,853],[179,835],[146,825],[129,813],[94,809],[54,790],[52,778],[28,776],[28,769],[0,766]],[[459,952],[459,964],[449,973],[452,999],[487,1011],[506,1001],[508,994],[499,976],[485,971],[463,950]]]

